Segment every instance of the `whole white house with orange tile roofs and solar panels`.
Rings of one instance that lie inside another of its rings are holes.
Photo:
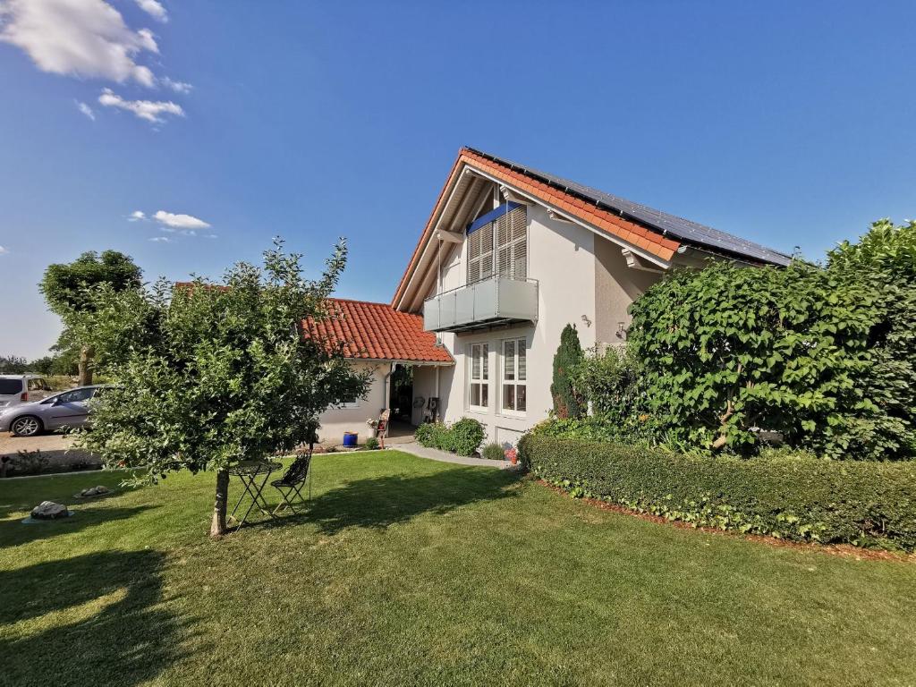
[[[514,443],[552,407],[553,354],[567,323],[576,325],[583,347],[621,343],[633,300],[665,270],[698,267],[710,257],[757,266],[790,260],[462,148],[390,306],[363,304],[377,326],[360,312],[350,315],[346,332],[344,325],[335,332],[356,364],[376,365],[376,384],[354,401],[357,408],[325,413],[322,437],[363,430],[365,418],[389,403],[393,366],[411,365],[414,424],[438,398],[440,419],[473,417],[489,440]],[[357,310],[355,301],[340,302]],[[357,420],[358,427],[344,426]]]

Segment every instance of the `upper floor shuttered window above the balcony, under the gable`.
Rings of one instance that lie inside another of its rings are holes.
[[[486,222],[488,217],[493,217]],[[484,224],[479,224],[484,221]],[[467,234],[467,283],[492,277],[528,277],[528,215],[505,203],[471,225]]]

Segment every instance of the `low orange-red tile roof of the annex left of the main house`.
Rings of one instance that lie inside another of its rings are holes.
[[[303,322],[306,331],[344,344],[344,355],[363,360],[404,360],[418,363],[454,362],[436,336],[423,331],[423,318],[394,310],[387,303],[328,299],[331,317]]]

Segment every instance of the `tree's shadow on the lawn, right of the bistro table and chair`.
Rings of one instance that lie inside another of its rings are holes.
[[[385,529],[424,513],[442,514],[478,501],[515,496],[508,487],[519,478],[507,470],[457,468],[361,479],[312,498],[303,517],[316,522],[324,534],[349,527]]]

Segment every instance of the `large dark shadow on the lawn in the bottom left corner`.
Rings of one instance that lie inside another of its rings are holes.
[[[0,682],[128,686],[155,678],[179,658],[180,624],[157,607],[163,559],[158,551],[104,551],[0,572]]]

